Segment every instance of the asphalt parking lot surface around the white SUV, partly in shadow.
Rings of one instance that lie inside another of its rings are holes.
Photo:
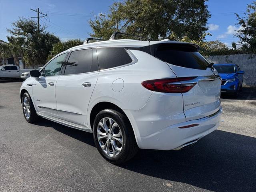
[[[256,89],[222,96],[218,130],[180,151],[104,160],[92,134],[41,119],[28,124],[22,82],[0,82],[0,191],[256,191]]]

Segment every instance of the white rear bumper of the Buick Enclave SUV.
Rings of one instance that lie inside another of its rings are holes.
[[[216,130],[220,124],[221,114],[220,107],[214,116],[174,124],[148,136],[136,137],[137,144],[142,149],[179,150]],[[179,128],[191,124],[198,124],[198,126]]]

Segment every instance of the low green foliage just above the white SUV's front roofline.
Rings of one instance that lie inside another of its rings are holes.
[[[80,40],[80,39],[72,39],[72,40],[67,40],[65,42],[58,42],[58,43],[53,45],[52,51],[48,55],[48,60],[50,60],[51,58],[53,58],[57,54],[65,51],[69,48],[72,48],[72,47],[78,46],[78,45],[82,45],[82,44],[83,44],[83,41]]]

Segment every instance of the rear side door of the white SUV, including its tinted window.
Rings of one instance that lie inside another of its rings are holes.
[[[57,111],[62,120],[87,128],[87,108],[98,79],[96,49],[70,53],[56,84]]]

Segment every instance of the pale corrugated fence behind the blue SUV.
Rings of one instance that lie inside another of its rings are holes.
[[[209,56],[208,60],[214,64],[237,64],[244,71],[243,85],[256,86],[256,54],[215,55]]]

